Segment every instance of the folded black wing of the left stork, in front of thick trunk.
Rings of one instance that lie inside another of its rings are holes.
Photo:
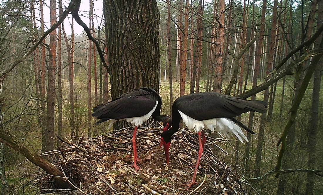
[[[93,108],[92,116],[104,121],[140,117],[148,114],[156,105],[156,101],[151,98],[150,93],[139,89],[124,93],[106,104],[99,104]]]

